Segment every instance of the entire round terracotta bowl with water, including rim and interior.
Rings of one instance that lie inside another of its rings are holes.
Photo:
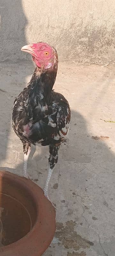
[[[30,180],[1,171],[0,255],[42,255],[55,229],[55,210],[42,189]]]

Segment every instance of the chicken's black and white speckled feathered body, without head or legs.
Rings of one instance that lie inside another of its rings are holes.
[[[69,131],[69,104],[52,90],[56,73],[45,70],[37,76],[35,69],[27,88],[14,101],[12,124],[22,142],[59,146]]]

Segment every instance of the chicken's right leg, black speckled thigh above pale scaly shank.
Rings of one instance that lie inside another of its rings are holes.
[[[55,164],[57,164],[57,160],[58,160],[58,150],[59,147],[56,146],[49,146],[49,151],[50,151],[50,157],[49,157],[49,172],[48,172],[48,176],[47,176],[47,180],[46,180],[46,184],[45,184],[45,188],[44,188],[44,195],[49,199],[48,196],[48,185],[51,179],[51,174],[54,170]]]

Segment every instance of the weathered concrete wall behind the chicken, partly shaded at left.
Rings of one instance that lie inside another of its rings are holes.
[[[28,59],[27,43],[56,47],[60,61],[115,61],[115,0],[0,0],[0,60]]]

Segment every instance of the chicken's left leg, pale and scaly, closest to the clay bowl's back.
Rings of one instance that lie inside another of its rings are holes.
[[[27,173],[27,161],[28,161],[28,157],[31,151],[31,144],[28,142],[23,142],[23,151],[24,151],[24,169],[23,169],[23,176],[26,179],[29,179],[30,176]]]

